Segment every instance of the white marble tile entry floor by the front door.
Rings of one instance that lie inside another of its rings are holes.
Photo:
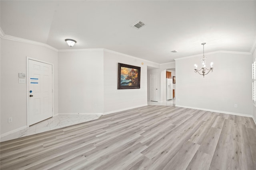
[[[20,137],[25,137],[29,135],[34,135],[41,132],[50,131],[53,129],[59,129],[62,127],[67,127],[71,125],[76,125],[79,123],[84,123],[87,121],[92,121],[100,118],[101,115],[57,115],[50,119],[46,119],[35,125],[12,133],[10,135],[1,137],[1,142],[8,141],[11,139],[16,139]]]

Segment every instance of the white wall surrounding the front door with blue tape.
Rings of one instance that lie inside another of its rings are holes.
[[[58,113],[58,53],[40,45],[1,38],[1,135],[27,125],[26,84],[18,73],[26,73],[26,57],[54,64],[54,113]],[[8,123],[12,117],[12,123]]]

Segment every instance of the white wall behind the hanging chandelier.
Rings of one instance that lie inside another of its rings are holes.
[[[176,60],[176,106],[252,115],[252,55],[205,56],[214,71],[204,78],[193,70],[202,57]]]

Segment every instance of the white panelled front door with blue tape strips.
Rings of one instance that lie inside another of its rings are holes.
[[[28,124],[52,117],[52,65],[28,60]]]

